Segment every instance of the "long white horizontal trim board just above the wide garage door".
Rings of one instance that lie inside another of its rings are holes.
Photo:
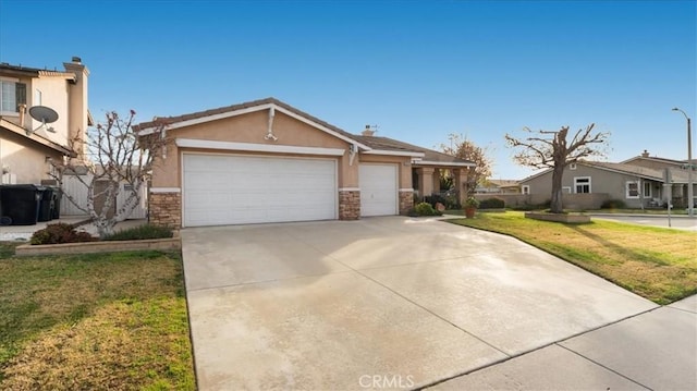
[[[323,156],[343,156],[346,151],[345,149],[341,149],[341,148],[297,147],[294,145],[215,142],[210,139],[196,139],[196,138],[176,138],[176,146],[181,148],[205,148],[205,149],[220,149],[220,150],[270,152],[270,154],[323,155]]]

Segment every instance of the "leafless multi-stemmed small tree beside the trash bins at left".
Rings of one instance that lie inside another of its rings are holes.
[[[87,200],[63,196],[90,218],[100,237],[113,232],[119,221],[126,219],[140,203],[143,186],[147,186],[155,156],[164,145],[159,132],[139,137],[132,129],[135,111],[122,119],[115,111],[106,113],[106,121],[70,140],[74,149],[84,148],[84,160],[52,162],[53,178],[63,187],[63,176],[74,175],[87,187]],[[83,173],[85,175],[77,175]],[[125,190],[125,188],[129,190]],[[122,190],[123,188],[123,190]],[[125,201],[114,211],[117,197],[125,192]]]

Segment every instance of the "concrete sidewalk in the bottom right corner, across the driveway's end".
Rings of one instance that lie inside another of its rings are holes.
[[[543,346],[432,390],[697,390],[697,295]]]

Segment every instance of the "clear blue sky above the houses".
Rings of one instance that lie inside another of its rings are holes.
[[[694,0],[0,0],[1,62],[61,70],[73,56],[98,119],[272,96],[425,147],[462,133],[490,149],[494,179],[531,173],[503,139],[524,126],[595,122],[612,133],[610,161],[686,159],[671,108],[697,113]]]

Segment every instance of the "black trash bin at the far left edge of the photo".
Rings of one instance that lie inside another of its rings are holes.
[[[44,187],[36,185],[0,185],[0,219],[11,225],[34,225],[39,219]]]

